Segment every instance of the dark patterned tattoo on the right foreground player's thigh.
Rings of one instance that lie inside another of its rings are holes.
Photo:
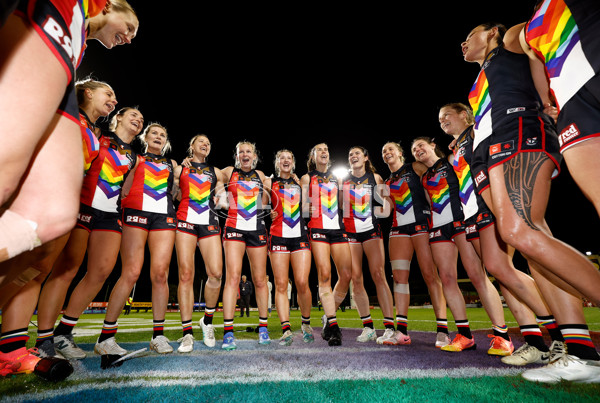
[[[504,182],[516,213],[533,230],[540,231],[531,218],[533,186],[548,156],[541,152],[519,153],[504,163]]]

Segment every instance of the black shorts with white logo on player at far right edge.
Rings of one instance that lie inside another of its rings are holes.
[[[592,77],[565,104],[558,115],[560,152],[600,136],[600,75]]]

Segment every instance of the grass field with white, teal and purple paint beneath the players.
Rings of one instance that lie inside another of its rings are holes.
[[[221,351],[219,340],[216,349],[197,341],[195,350],[187,355],[148,353],[105,371],[100,370],[99,357],[92,353],[104,315],[86,314],[76,327],[75,341],[89,354],[74,362],[74,374],[58,384],[35,375],[2,379],[0,401],[600,401],[600,384],[540,385],[524,381],[519,376],[522,369],[506,367],[498,357],[486,355],[485,336],[490,323],[484,310],[469,308],[467,313],[472,329],[480,329],[476,335],[479,347],[474,352],[451,354],[433,348],[433,310],[420,308],[409,312],[411,346],[359,345],[353,339],[361,322],[355,310],[346,310],[338,312],[344,344],[328,347],[318,336],[322,311],[314,309],[315,343],[305,345],[300,338],[290,347],[279,346],[275,340],[281,330],[274,311],[269,319],[274,342],[264,348],[256,343],[257,335],[247,331],[258,325],[258,313],[254,311],[250,318],[235,318],[239,347],[234,352]],[[600,310],[586,308],[585,313],[590,329],[600,330]],[[514,331],[517,325],[510,311],[505,310],[505,315]],[[197,325],[201,317],[201,312],[194,313],[197,340],[201,339]],[[381,311],[373,309],[372,317],[381,334]],[[454,332],[452,317],[448,319]],[[222,323],[222,313],[217,312],[217,339],[223,335]],[[293,330],[300,328],[299,311],[291,312],[291,323]],[[29,346],[36,337],[34,324],[35,317],[30,325]],[[117,341],[130,351],[147,347],[151,326],[151,313],[121,316]],[[181,337],[178,313],[167,314],[165,335],[176,348],[175,341]],[[515,344],[521,343],[515,340]]]

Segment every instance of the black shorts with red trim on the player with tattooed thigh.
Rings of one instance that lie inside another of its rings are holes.
[[[544,114],[520,116],[510,120],[502,128],[494,131],[487,148],[488,170],[522,152],[543,152],[556,166],[552,176],[555,177],[560,171],[562,156],[559,152],[556,126],[550,117]]]

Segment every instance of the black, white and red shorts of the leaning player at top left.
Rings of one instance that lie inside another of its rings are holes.
[[[79,122],[79,106],[75,95],[75,70],[85,48],[85,16],[83,8],[76,6],[78,4],[76,0],[65,1],[65,3],[69,4],[65,4],[64,8],[72,11],[68,16],[62,16],[48,0],[22,0],[15,15],[23,18],[35,29],[63,66],[69,84],[58,112]],[[65,21],[65,18],[69,21]]]

